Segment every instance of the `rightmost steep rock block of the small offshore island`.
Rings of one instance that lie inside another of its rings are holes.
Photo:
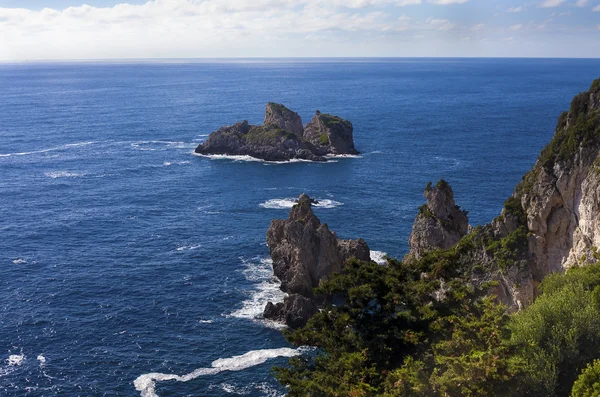
[[[354,148],[352,123],[318,110],[304,127],[304,138],[331,154],[358,154]]]

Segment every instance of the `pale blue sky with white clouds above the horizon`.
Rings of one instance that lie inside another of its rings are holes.
[[[600,57],[600,0],[0,0],[0,61]]]

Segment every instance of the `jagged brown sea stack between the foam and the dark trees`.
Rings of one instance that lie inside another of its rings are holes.
[[[274,220],[267,231],[273,271],[281,290],[289,295],[283,303],[269,302],[264,317],[300,327],[316,312],[313,288],[322,279],[340,272],[345,261],[355,257],[370,260],[364,240],[340,240],[312,211],[311,199],[303,194],[286,220]]]

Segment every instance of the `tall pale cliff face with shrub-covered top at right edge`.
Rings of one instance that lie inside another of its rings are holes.
[[[536,279],[595,262],[600,247],[600,80],[577,95],[515,195],[527,215]]]

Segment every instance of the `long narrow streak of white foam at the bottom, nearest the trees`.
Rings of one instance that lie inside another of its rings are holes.
[[[167,380],[189,382],[200,376],[215,375],[223,371],[242,371],[263,364],[271,358],[293,357],[300,354],[300,349],[290,349],[286,347],[279,349],[252,350],[241,356],[220,358],[212,362],[211,368],[198,368],[186,375],[163,374],[158,372],[140,375],[133,382],[133,385],[137,391],[141,392],[142,397],[158,397],[156,394],[157,382],[164,382]]]

